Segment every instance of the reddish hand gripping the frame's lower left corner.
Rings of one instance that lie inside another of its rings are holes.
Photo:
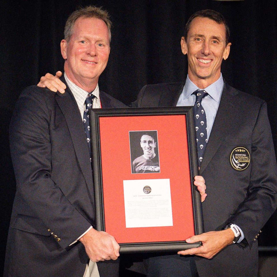
[[[85,246],[87,255],[93,262],[116,260],[119,257],[120,246],[115,238],[106,232],[92,228],[79,240]]]

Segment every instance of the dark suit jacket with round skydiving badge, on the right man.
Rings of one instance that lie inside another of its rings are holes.
[[[176,106],[183,87],[184,83],[146,85],[135,105]],[[250,153],[245,170],[231,166],[235,147]],[[207,186],[202,203],[205,232],[233,222],[242,229],[246,247],[233,244],[211,260],[195,258],[199,276],[257,276],[256,235],[276,209],[277,200],[276,158],[263,100],[224,85],[200,175]]]

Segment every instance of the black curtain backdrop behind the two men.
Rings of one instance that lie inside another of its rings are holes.
[[[5,252],[15,192],[8,146],[8,125],[14,102],[20,91],[38,83],[40,76],[63,69],[59,43],[66,18],[78,6],[90,4],[108,10],[113,22],[111,54],[100,77],[100,88],[126,104],[136,99],[139,89],[145,84],[184,80],[187,61],[180,50],[180,38],[186,20],[201,9],[212,8],[221,12],[231,29],[232,42],[230,56],[223,62],[222,74],[233,87],[267,102],[277,149],[276,0],[2,0],[1,257]],[[260,245],[277,245],[276,218],[274,214],[263,228]]]

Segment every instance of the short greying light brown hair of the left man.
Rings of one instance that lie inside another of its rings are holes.
[[[105,22],[108,32],[109,32],[109,41],[111,42],[111,20],[108,12],[106,10],[103,10],[102,7],[98,8],[95,6],[87,6],[85,8],[80,8],[76,10],[75,12],[72,12],[68,19],[66,20],[65,27],[64,27],[64,39],[68,42],[70,40],[70,37],[73,33],[73,27],[76,22],[76,20],[80,17],[83,18],[98,18]]]

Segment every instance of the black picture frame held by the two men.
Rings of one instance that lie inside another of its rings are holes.
[[[194,234],[198,235],[204,232],[203,214],[201,196],[193,185],[194,176],[199,175],[197,152],[196,152],[196,134],[194,125],[193,107],[160,107],[160,108],[102,108],[89,110],[89,121],[91,126],[91,160],[94,182],[95,197],[95,225],[98,231],[106,231],[104,216],[104,196],[103,196],[103,176],[102,176],[102,158],[101,158],[101,139],[100,139],[100,118],[105,117],[126,117],[133,116],[159,116],[159,115],[185,115],[186,134],[190,169],[190,186],[193,209]],[[180,126],[181,128],[182,126]],[[118,127],[120,128],[120,126]],[[137,174],[139,175],[139,174]],[[110,233],[113,235],[113,233]],[[172,240],[163,242],[135,242],[119,243],[120,253],[139,253],[139,252],[171,252],[185,250],[201,246],[201,242],[188,244],[186,241]]]

